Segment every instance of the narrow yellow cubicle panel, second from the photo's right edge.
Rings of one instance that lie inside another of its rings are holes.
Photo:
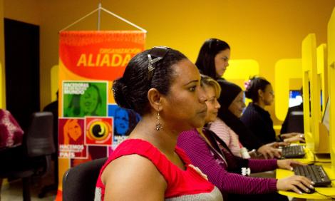
[[[328,98],[328,71],[327,71],[327,46],[325,43],[321,44],[316,49],[316,67],[317,67],[317,79],[318,79],[318,91],[322,91],[322,110],[319,114],[319,120],[321,122],[322,116],[324,115],[324,108]]]

